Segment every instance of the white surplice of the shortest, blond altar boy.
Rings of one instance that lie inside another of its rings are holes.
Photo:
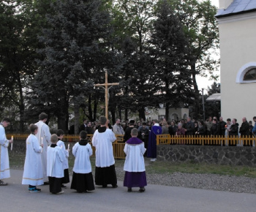
[[[54,178],[63,178],[63,162],[65,155],[59,146],[50,147],[48,146],[47,151],[47,175]]]

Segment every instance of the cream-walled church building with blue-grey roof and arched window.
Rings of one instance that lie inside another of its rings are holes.
[[[256,0],[219,0],[222,117],[256,116]]]

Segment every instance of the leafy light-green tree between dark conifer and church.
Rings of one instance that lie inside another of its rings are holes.
[[[168,0],[184,24],[184,30],[189,39],[190,67],[192,83],[195,91],[195,118],[199,115],[200,99],[196,76],[201,75],[216,79],[219,61],[214,58],[219,48],[219,32],[217,20],[214,17],[217,8],[210,0]]]

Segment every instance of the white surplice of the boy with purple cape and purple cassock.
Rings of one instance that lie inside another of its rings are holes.
[[[127,155],[124,162],[124,171],[127,172],[144,172],[145,163],[143,154],[145,153],[146,148],[144,143],[140,144],[128,144],[124,146],[124,153]]]

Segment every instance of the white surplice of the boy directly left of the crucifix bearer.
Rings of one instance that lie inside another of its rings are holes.
[[[89,143],[80,145],[76,143],[72,148],[72,154],[75,156],[75,164],[73,167],[74,173],[87,174],[91,173],[90,156],[92,155],[92,148]]]

